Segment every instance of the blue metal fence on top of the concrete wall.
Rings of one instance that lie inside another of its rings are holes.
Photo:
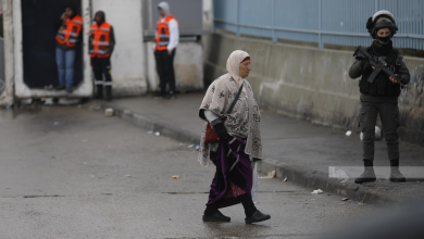
[[[397,48],[424,50],[424,0],[214,0],[214,26],[240,34],[324,45],[367,46],[366,21],[388,10]]]

